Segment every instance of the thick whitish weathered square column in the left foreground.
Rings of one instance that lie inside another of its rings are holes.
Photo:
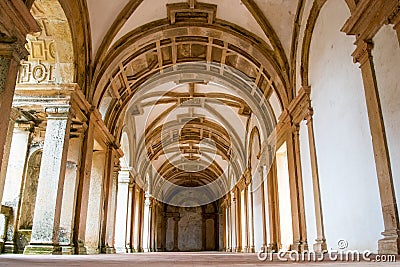
[[[70,131],[70,107],[47,107],[47,127],[30,245],[25,254],[58,254],[61,205]]]

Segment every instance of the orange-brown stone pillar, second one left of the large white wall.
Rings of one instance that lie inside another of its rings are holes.
[[[289,167],[290,199],[292,202],[293,244],[296,251],[308,250],[305,222],[303,180],[300,163],[299,125],[289,128],[287,156]]]

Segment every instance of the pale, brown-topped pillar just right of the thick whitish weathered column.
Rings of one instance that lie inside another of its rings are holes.
[[[73,225],[75,221],[76,197],[82,154],[83,133],[74,134],[69,140],[67,167],[65,171],[62,200],[59,244],[63,254],[74,254]]]

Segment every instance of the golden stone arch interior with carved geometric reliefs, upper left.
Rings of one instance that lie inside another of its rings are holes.
[[[60,3],[36,0],[30,12],[42,31],[27,36],[30,55],[21,64],[17,82],[21,85],[73,83],[72,36]]]

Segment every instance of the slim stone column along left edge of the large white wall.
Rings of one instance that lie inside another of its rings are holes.
[[[312,116],[313,116],[313,110],[310,109],[306,119],[307,119],[307,130],[308,130],[308,144],[310,147],[312,184],[314,193],[315,223],[317,230],[317,238],[315,239],[313,248],[315,252],[321,253],[327,250],[327,245],[325,239],[324,220],[322,214],[321,190],[319,187],[317,151],[315,149],[314,126],[313,126]]]

